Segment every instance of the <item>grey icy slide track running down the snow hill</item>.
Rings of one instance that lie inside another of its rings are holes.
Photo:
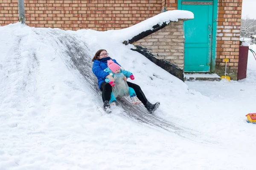
[[[82,83],[92,89],[92,96],[98,96],[99,100],[101,100],[101,92],[98,89],[96,76],[92,74],[91,58],[94,52],[90,51],[87,47],[87,43],[83,42],[77,35],[59,29],[32,29],[32,31],[35,32],[38,39],[44,40],[44,42],[49,41],[49,45],[55,43],[54,46],[59,46],[58,52],[61,52],[61,59],[65,62],[68,69],[71,72],[78,70],[80,75],[77,76],[82,77]],[[36,64],[36,62],[34,63]],[[121,106],[123,109],[123,112],[119,113],[120,115],[143,123],[148,127],[167,133],[175,133],[182,138],[198,141],[200,143],[215,143],[204,139],[204,137],[195,130],[179,127],[173,122],[166,121],[157,115],[148,114],[143,105],[133,106],[130,104],[130,101],[128,101],[128,98],[119,99],[117,105],[119,107]]]

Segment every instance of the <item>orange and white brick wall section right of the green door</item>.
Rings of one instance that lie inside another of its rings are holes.
[[[239,61],[239,36],[241,26],[242,0],[218,0],[218,25],[216,48],[216,72],[225,70],[224,58],[227,63],[227,73],[237,79]]]

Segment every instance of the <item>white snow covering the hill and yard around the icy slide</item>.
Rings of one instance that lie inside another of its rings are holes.
[[[76,52],[63,42],[74,39],[86,49],[81,58],[106,49],[133,72],[148,100],[160,101],[155,115],[185,138],[124,117],[119,107],[102,112],[93,81],[70,67]],[[130,48],[113,31],[0,27],[0,170],[255,169],[256,124],[245,117],[256,112],[251,53],[244,80],[183,83]]]

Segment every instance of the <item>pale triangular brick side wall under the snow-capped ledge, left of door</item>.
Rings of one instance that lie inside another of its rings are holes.
[[[180,69],[184,68],[184,31],[181,19],[133,44],[147,48],[158,59],[169,61]]]

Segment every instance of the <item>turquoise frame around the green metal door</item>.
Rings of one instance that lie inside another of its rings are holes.
[[[181,3],[183,1],[190,2],[212,2],[212,49],[211,49],[211,59],[210,59],[210,72],[215,71],[216,64],[216,35],[217,35],[217,12],[218,12],[218,0],[178,0],[178,10],[181,10]],[[185,21],[186,22],[186,21]],[[186,37],[185,37],[186,38]],[[185,58],[185,55],[184,55]]]

